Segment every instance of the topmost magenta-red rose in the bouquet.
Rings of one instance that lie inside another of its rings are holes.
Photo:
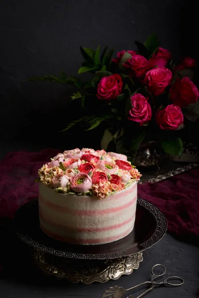
[[[167,49],[159,48],[152,58],[148,60],[147,69],[151,70],[154,67],[166,67],[171,59],[171,53]]]

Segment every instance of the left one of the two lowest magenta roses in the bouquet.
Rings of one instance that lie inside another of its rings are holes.
[[[138,122],[140,126],[151,120],[152,110],[148,103],[148,97],[135,93],[131,97],[132,108],[129,111],[128,120]]]

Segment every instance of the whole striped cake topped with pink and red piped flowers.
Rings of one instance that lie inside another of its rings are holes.
[[[38,171],[42,230],[82,245],[127,236],[134,227],[140,177],[123,154],[88,148],[57,154]]]

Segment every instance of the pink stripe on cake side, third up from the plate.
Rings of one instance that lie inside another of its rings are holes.
[[[64,207],[64,206],[58,206],[54,203],[46,201],[42,196],[39,196],[39,200],[43,201],[46,206],[48,206],[50,209],[52,209],[54,211],[70,213],[70,214],[74,214],[77,216],[91,216],[91,217],[95,217],[96,215],[104,215],[104,214],[119,212],[125,208],[132,206],[133,203],[136,201],[136,199],[137,199],[137,196],[135,198],[133,198],[132,201],[130,201],[124,205],[121,205],[121,206],[118,206],[115,208],[105,209],[105,210],[75,210],[75,209],[71,209],[71,208]]]

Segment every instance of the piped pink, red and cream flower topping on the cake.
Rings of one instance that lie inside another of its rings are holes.
[[[142,176],[126,155],[89,148],[58,153],[38,175],[36,181],[56,192],[99,199],[125,189]]]

